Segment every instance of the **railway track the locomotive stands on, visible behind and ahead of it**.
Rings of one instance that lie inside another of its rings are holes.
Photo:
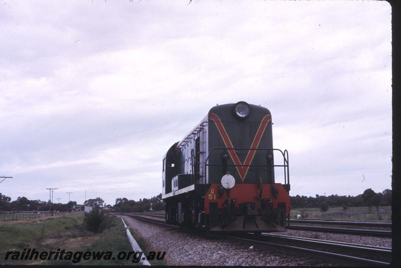
[[[143,221],[159,225],[179,228],[164,222],[164,215],[157,214],[122,214]],[[370,231],[370,230],[365,230]],[[210,234],[209,234],[210,235]],[[345,242],[320,240],[313,238],[295,237],[272,233],[235,233],[217,234],[223,239],[242,241],[247,244],[258,244],[263,247],[291,251],[296,254],[313,255],[323,257],[325,260],[332,259],[343,264],[357,265],[388,265],[391,261],[391,248],[370,245],[352,244]],[[216,234],[213,233],[216,237]]]

